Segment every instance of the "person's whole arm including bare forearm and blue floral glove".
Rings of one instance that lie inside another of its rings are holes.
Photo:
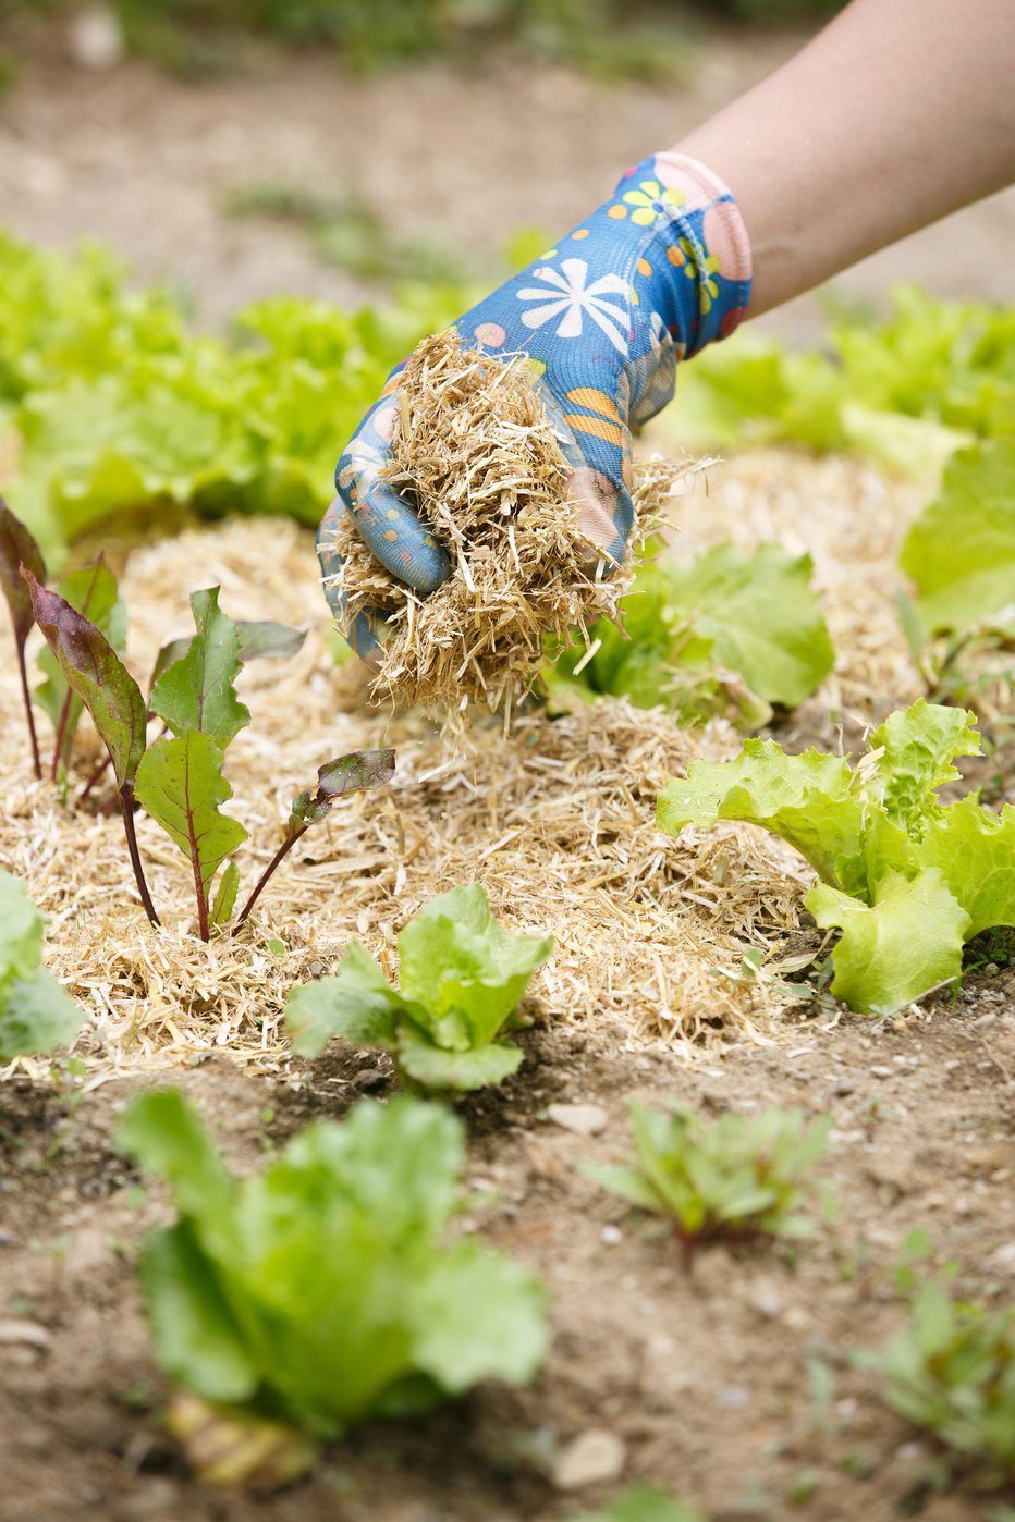
[[[466,314],[466,344],[523,350],[542,367],[575,464],[580,517],[607,560],[630,524],[630,428],[670,399],[677,359],[744,315],[752,253],[756,315],[1012,180],[1013,53],[1012,0],[852,0],[781,70],[628,170],[603,207]],[[642,189],[653,183],[657,193]],[[668,192],[682,199],[667,204]],[[598,315],[577,300],[592,286]],[[552,320],[536,321],[551,300],[560,303]],[[598,420],[592,393],[604,399]],[[339,524],[352,521],[423,595],[449,569],[411,504],[383,482],[390,417],[379,403],[342,455],[320,537],[326,592],[361,653],[380,621],[367,610],[350,627]]]

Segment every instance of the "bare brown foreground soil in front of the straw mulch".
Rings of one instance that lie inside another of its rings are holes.
[[[199,1489],[158,1423],[166,1390],[131,1263],[140,1230],[164,1208],[155,1196],[138,1201],[137,1180],[110,1149],[137,1081],[105,1084],[70,1116],[52,1090],[15,1078],[2,1097],[0,1304],[44,1329],[44,1345],[0,1342],[2,1514],[565,1517],[615,1487],[562,1495],[554,1458],[577,1434],[606,1428],[624,1443],[625,1476],[673,1487],[715,1522],[983,1517],[977,1476],[959,1473],[936,1493],[933,1447],[884,1409],[849,1356],[898,1327],[892,1265],[913,1228],[931,1234],[936,1263],[963,1265],[965,1288],[1015,1292],[1013,1005],[1015,974],[980,974],[954,1008],[889,1026],[802,1021],[787,1043],[697,1068],[632,1044],[624,1027],[536,1029],[519,1075],[464,1116],[469,1181],[493,1189],[467,1224],[549,1285],[543,1376],[528,1391],[484,1387],[425,1422],[361,1429],[307,1482],[260,1499]],[[388,1091],[382,1065],[355,1053],[297,1065],[285,1081],[213,1059],[184,1085],[237,1169],[259,1166],[310,1119]],[[829,1110],[834,1225],[793,1254],[706,1247],[686,1272],[663,1225],[575,1167],[625,1149],[630,1099],[667,1096],[709,1113]],[[574,1135],[548,1120],[551,1102],[598,1103],[607,1128]]]

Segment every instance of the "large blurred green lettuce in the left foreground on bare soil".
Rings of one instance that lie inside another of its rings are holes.
[[[317,1443],[537,1371],[537,1280],[446,1239],[464,1138],[441,1106],[364,1100],[242,1181],[175,1091],[134,1100],[119,1146],[173,1193],[178,1219],[148,1237],[142,1286],[155,1356],[208,1403],[205,1422],[260,1419]],[[183,1425],[193,1432],[193,1415]],[[306,1466],[312,1449],[295,1457]]]

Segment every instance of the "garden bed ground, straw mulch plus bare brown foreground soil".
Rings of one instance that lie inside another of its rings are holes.
[[[855,747],[864,724],[918,694],[892,609],[916,505],[866,467],[775,452],[717,469],[708,496],[698,487],[677,504],[680,551],[778,537],[814,554],[840,667],[793,715],[784,738],[794,747],[835,747],[843,731]],[[1015,1291],[1015,976],[980,970],[954,1001],[893,1021],[838,1012],[837,1023],[788,1001],[778,976],[738,980],[749,947],[778,968],[807,942],[807,872],[749,828],[673,843],[651,822],[665,775],[697,753],[735,753],[726,726],[691,737],[665,715],[604,703],[554,721],[523,714],[507,738],[478,723],[453,741],[420,714],[371,714],[358,671],[327,651],[310,537],[272,522],[193,530],[129,556],[138,673],[161,638],[186,630],[186,594],[213,583],[234,616],[310,627],[294,662],[243,677],[254,718],[227,775],[253,834],[248,875],[321,761],[391,743],[399,775],[306,837],[250,935],[205,950],[192,936],[184,858],[148,822],[152,890],[178,906],[161,936],[123,875],[119,822],[61,826],[53,790],[32,784],[20,756],[5,668],[0,861],[50,915],[47,960],[93,1014],[73,1094],[40,1062],[17,1064],[0,1087],[5,1522],[566,1517],[621,1484],[554,1487],[558,1454],[587,1429],[619,1438],[622,1479],[648,1476],[715,1522],[986,1516],[978,1476],[933,1489],[937,1457],[849,1355],[901,1323],[892,1263],[916,1227],[934,1262],[962,1265],[963,1286]],[[132,1256],[166,1210],[113,1152],[117,1116],[140,1085],[170,1076],[230,1163],[250,1169],[312,1117],[387,1093],[376,1055],[289,1058],[285,989],[330,970],[352,935],[394,973],[405,919],[432,892],[476,878],[511,928],[549,928],[558,944],[534,983],[525,1064],[461,1106],[469,1183],[484,1189],[466,1227],[546,1278],[546,1370],[528,1391],[484,1387],[423,1422],[359,1431],[289,1493],[202,1492],[158,1423],[164,1385]],[[714,1113],[831,1110],[837,1145],[822,1172],[835,1221],[793,1254],[709,1247],[685,1272],[665,1227],[575,1167],[625,1149],[632,1097],[670,1096]],[[551,1103],[598,1105],[604,1129],[572,1134]]]

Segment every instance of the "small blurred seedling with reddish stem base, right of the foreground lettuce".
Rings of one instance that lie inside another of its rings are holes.
[[[799,1110],[727,1111],[709,1122],[686,1105],[670,1113],[632,1105],[630,1117],[636,1163],[584,1163],[581,1172],[642,1210],[671,1216],[686,1262],[717,1237],[811,1233],[799,1205],[828,1151],[831,1116],[808,1123]]]

